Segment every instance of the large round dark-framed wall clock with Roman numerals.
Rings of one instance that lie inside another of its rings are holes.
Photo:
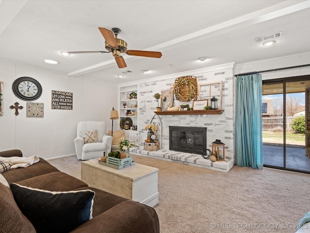
[[[20,77],[12,85],[14,94],[21,100],[36,100],[42,94],[41,84],[30,77]]]

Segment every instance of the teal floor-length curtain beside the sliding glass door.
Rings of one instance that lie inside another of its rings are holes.
[[[262,76],[237,77],[235,117],[236,166],[263,168]]]

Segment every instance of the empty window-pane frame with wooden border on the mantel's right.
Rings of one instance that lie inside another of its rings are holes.
[[[218,109],[222,109],[222,89],[223,82],[202,83],[198,86],[199,100],[209,100],[216,97],[218,100]]]

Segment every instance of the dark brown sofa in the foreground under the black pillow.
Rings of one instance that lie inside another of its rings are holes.
[[[22,157],[22,152],[0,152],[0,157],[10,156]],[[1,172],[1,175],[9,184],[17,183],[31,188],[62,192],[86,189],[94,191],[93,218],[70,231],[72,233],[159,233],[158,216],[153,208],[89,187],[42,158],[31,166],[9,169]],[[0,233],[36,232],[31,221],[18,208],[11,189],[2,183],[0,206]]]

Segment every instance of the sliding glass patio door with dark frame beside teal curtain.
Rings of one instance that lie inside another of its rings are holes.
[[[310,173],[309,89],[310,76],[263,81],[264,166]]]

